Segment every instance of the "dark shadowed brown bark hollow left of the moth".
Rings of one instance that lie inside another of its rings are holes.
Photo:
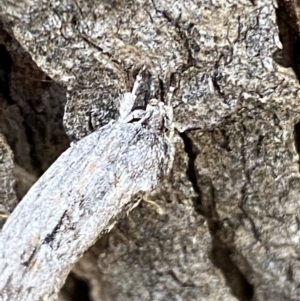
[[[62,123],[65,102],[65,89],[43,73],[0,24],[0,133],[8,144],[0,149],[6,153],[9,147],[13,154],[13,173],[4,166],[8,161],[0,163],[2,176],[7,176],[1,187],[13,181],[0,206],[8,213],[69,145]]]

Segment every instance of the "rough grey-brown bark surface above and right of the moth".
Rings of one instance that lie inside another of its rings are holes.
[[[177,157],[153,192],[165,212],[142,203],[78,262],[69,280],[91,300],[300,298],[297,12],[270,0],[5,1],[14,37],[67,86],[71,138],[117,117],[142,65],[160,100],[180,78]]]

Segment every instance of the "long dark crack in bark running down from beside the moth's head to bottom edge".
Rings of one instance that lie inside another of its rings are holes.
[[[189,157],[187,177],[197,194],[197,197],[193,199],[195,211],[206,218],[212,237],[211,261],[223,273],[232,294],[240,301],[251,301],[254,296],[254,287],[231,258],[236,251],[228,241],[226,230],[223,229],[219,220],[214,201],[215,189],[213,184],[209,177],[198,177],[197,175],[195,168],[197,151],[194,149],[192,139],[187,133],[181,133],[180,137],[184,141],[185,151]]]

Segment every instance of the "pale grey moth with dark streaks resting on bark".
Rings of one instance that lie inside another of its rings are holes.
[[[143,84],[120,103],[120,118],[67,149],[33,185],[0,236],[0,300],[54,300],[72,265],[173,163],[172,110]],[[47,281],[44,281],[47,279]]]

